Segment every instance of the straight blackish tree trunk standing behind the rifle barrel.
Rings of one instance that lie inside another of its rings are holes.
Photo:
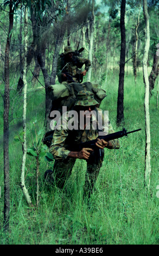
[[[124,72],[125,72],[125,5],[126,0],[122,0],[120,8],[120,32],[121,32],[121,50],[120,50],[120,72],[117,102],[117,125],[124,121]]]

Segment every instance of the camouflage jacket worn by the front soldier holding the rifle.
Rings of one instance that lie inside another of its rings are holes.
[[[101,109],[97,108],[97,110],[100,110],[100,113],[102,113]],[[98,137],[98,130],[94,129],[93,127],[93,118],[91,118],[90,121],[90,129],[83,129],[83,130],[70,130],[68,129],[68,122],[71,120],[72,117],[68,117],[68,112],[67,117],[63,121],[63,115],[61,117],[59,127],[58,129],[55,130],[53,139],[52,139],[52,144],[50,145],[49,151],[50,153],[53,154],[54,159],[57,160],[64,160],[68,157],[68,154],[71,151],[78,151],[76,149],[76,145],[78,145],[80,142],[86,142],[86,141],[92,141],[93,139],[96,139]],[[102,114],[102,119],[104,118],[104,115]],[[63,123],[64,123],[64,128],[63,128]],[[79,128],[79,126],[78,126]],[[113,127],[110,123],[108,122],[108,127],[107,127],[107,134],[113,133]],[[119,149],[120,144],[118,139],[114,139],[112,142],[113,148]]]

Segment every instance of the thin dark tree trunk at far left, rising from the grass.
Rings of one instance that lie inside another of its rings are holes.
[[[3,133],[3,147],[4,147],[4,229],[9,230],[9,212],[10,212],[10,186],[9,186],[9,53],[10,41],[12,35],[12,27],[14,21],[14,9],[12,10],[12,1],[9,5],[9,31],[7,37],[7,44],[5,47],[4,60],[4,133]]]

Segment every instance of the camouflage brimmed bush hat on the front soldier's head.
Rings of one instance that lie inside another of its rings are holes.
[[[77,95],[77,102],[75,106],[94,106],[97,105],[98,102],[94,99],[94,94],[89,91],[81,90]]]

